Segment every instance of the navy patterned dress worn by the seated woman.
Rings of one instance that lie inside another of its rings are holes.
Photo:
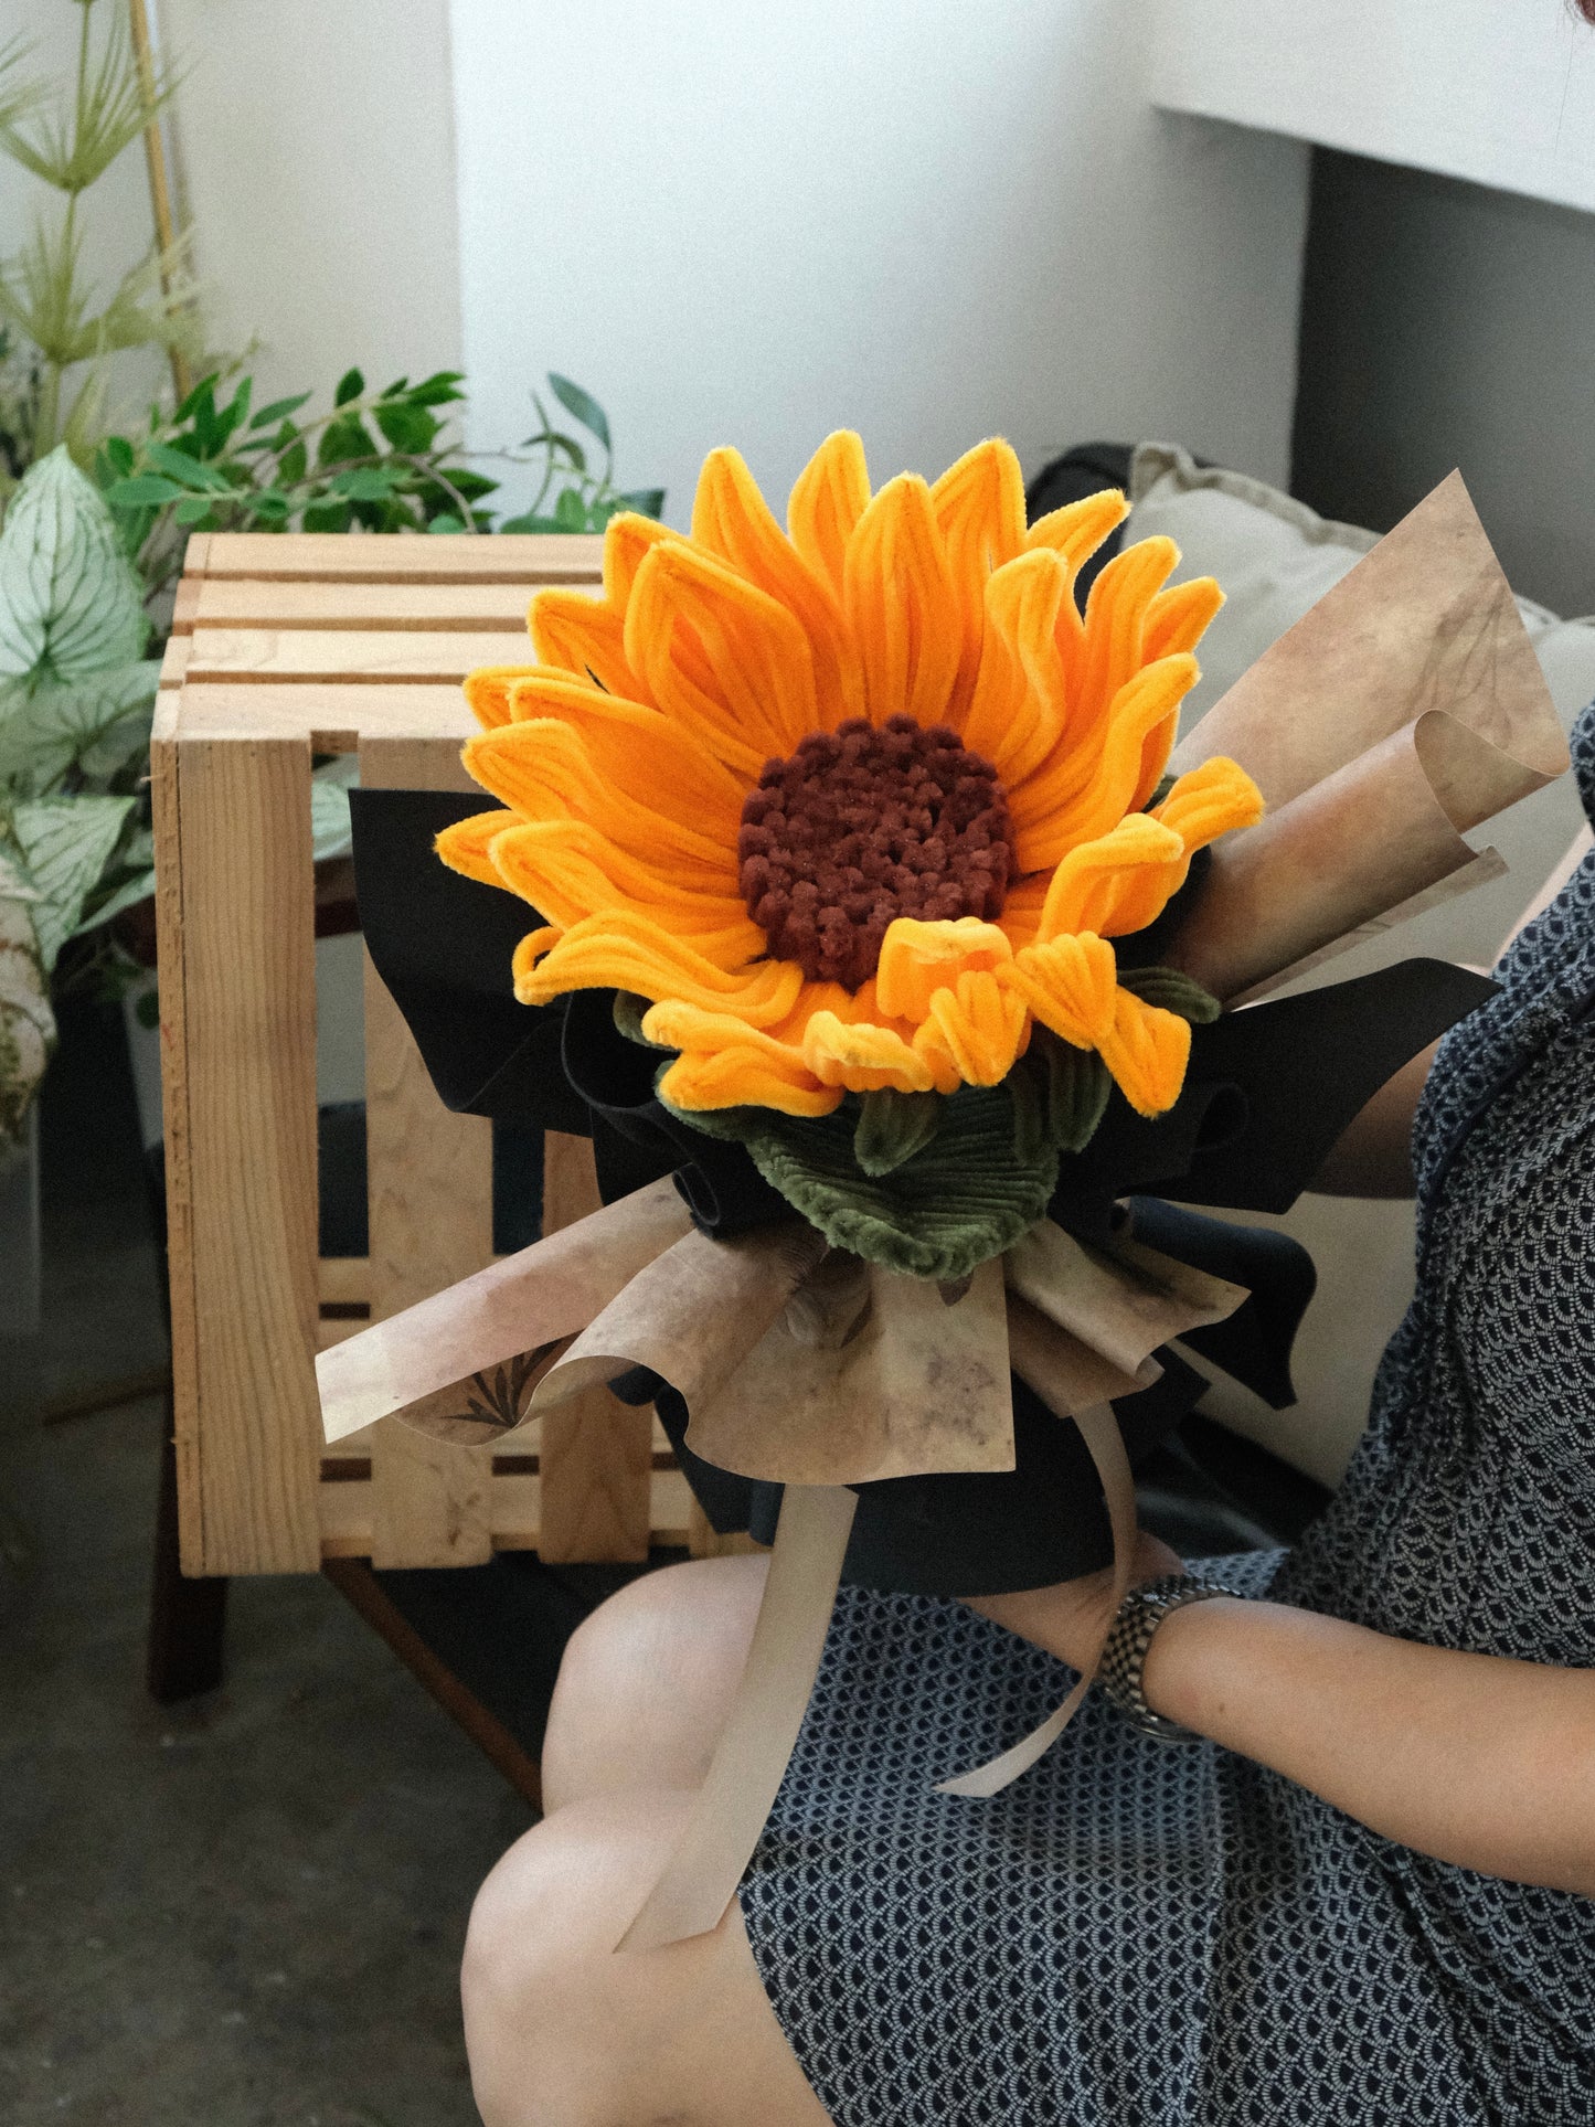
[[[1595,819],[1595,708],[1574,732]],[[1455,1029],[1418,1283],[1346,1483],[1216,1570],[1433,1646],[1595,1668],[1595,859]],[[1072,1676],[955,1602],[844,1589],[742,1885],[838,2127],[1595,2123],[1595,1902],[1429,1861],[1093,1693],[991,1802],[934,1793]]]

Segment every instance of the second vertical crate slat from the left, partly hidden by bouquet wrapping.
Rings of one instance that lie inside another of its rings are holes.
[[[374,738],[372,789],[466,787],[459,749]],[[451,1115],[383,978],[366,959],[366,1172],[372,1319],[398,1314],[493,1259],[491,1125]],[[372,1563],[481,1565],[493,1553],[489,1446],[461,1448],[398,1419],[372,1444]]]

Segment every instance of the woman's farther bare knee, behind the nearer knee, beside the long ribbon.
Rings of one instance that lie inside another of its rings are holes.
[[[763,1557],[666,1565],[570,1638],[542,1746],[544,1806],[627,1787],[698,1787],[742,1674]]]

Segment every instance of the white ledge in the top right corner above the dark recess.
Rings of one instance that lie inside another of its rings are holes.
[[[1567,0],[1161,0],[1153,94],[1595,206],[1595,34]]]

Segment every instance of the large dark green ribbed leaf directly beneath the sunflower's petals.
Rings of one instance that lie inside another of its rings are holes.
[[[834,1115],[774,1108],[676,1108],[708,1136],[736,1138],[763,1178],[836,1249],[910,1278],[963,1278],[1010,1249],[1046,1212],[1057,1153],[1014,1153],[1006,1087],[961,1087],[942,1102],[940,1129],[891,1174],[859,1174],[859,1102]]]

